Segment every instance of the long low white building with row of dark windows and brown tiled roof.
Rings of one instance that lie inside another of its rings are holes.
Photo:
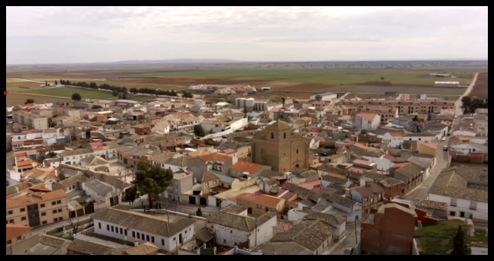
[[[156,216],[110,208],[97,212],[93,219],[96,234],[127,242],[138,239],[139,244],[150,242],[169,252],[194,237],[195,220],[191,218],[168,222]]]

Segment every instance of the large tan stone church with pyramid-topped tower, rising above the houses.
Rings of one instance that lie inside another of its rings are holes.
[[[252,162],[271,166],[280,173],[295,167],[309,168],[312,156],[308,140],[293,133],[283,121],[276,121],[256,132],[250,153]]]

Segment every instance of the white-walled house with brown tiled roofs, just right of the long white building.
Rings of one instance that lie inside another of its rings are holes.
[[[249,247],[262,244],[273,237],[276,213],[266,212],[258,218],[247,216],[247,207],[230,205],[207,217],[206,227],[216,236],[216,243],[236,246],[249,242]]]

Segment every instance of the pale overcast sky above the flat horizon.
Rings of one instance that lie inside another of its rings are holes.
[[[7,7],[7,64],[487,58],[487,7]]]

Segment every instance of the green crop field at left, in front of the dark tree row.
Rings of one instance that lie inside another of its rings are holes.
[[[111,92],[87,90],[71,87],[60,88],[40,88],[40,89],[20,89],[16,90],[24,93],[41,94],[57,97],[72,97],[74,92],[81,94],[82,99],[111,99],[113,98]]]

